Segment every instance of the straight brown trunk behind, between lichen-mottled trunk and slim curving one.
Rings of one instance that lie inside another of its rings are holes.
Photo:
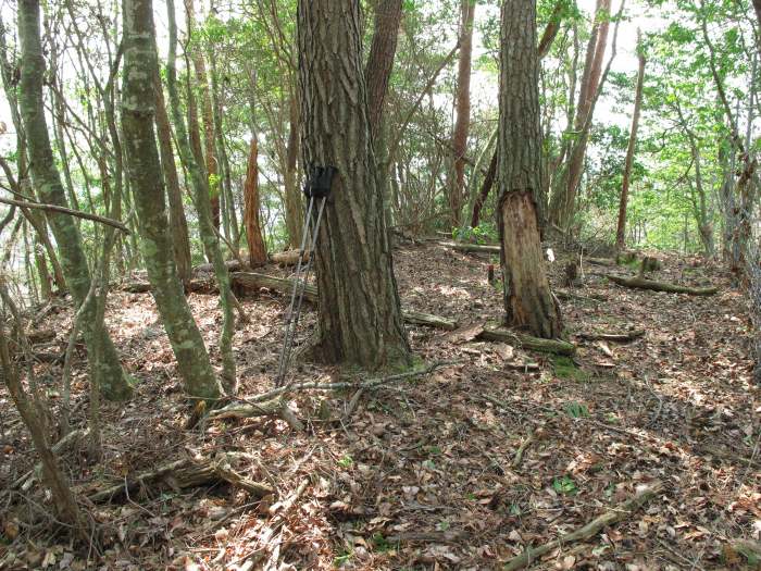
[[[164,173],[166,184],[166,196],[170,204],[170,229],[172,236],[172,249],[174,261],[177,266],[179,280],[186,286],[190,283],[192,275],[192,260],[190,257],[190,237],[188,235],[188,222],[185,218],[185,207],[183,206],[183,191],[179,188],[177,166],[174,162],[172,150],[172,127],[170,117],[166,114],[164,102],[164,90],[161,85],[161,76],[155,77],[155,127],[159,137],[159,149],[161,150],[161,169]]]

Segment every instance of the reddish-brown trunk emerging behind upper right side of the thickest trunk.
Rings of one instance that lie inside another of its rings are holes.
[[[384,102],[388,91],[388,79],[397,53],[402,0],[375,0],[375,23],[370,58],[364,71],[367,84],[367,120],[375,137],[380,124]]]

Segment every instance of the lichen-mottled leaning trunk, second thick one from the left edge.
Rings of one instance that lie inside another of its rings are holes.
[[[153,136],[158,69],[151,0],[124,0],[122,128],[140,223],[142,253],[157,308],[188,395],[214,399],[219,384],[203,338],[183,295],[172,251],[164,185]]]

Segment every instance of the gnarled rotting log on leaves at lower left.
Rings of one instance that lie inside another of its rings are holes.
[[[126,492],[135,492],[140,488],[170,487],[185,489],[214,482],[226,482],[260,498],[275,494],[275,489],[269,484],[254,482],[233,470],[230,461],[237,456],[235,454],[221,454],[214,459],[184,458],[175,460],[155,470],[127,476],[118,484],[87,494],[87,497],[93,502],[111,501],[120,498]]]

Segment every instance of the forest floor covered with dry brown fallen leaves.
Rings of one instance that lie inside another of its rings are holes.
[[[736,543],[761,534],[761,392],[751,384],[746,300],[719,265],[661,259],[658,278],[713,283],[720,293],[625,289],[599,274],[631,270],[585,264],[584,285],[573,289],[582,297],[562,301],[579,345],[569,360],[474,338],[502,314],[501,293],[486,280],[495,260],[429,243],[401,246],[402,306],[461,324],[410,326],[411,346],[426,363],[454,363],[367,392],[348,418],[351,392],[301,393],[291,401],[307,420],[300,434],[272,418],[184,430],[190,406],[151,297],[114,291],[109,326],[139,384],[128,404],[103,405],[101,463],[88,463],[86,443],[62,455],[76,488],[239,451],[239,470],[270,482],[277,498],[258,501],[227,484],[180,491],[171,479],[145,486],[88,508],[104,536],[89,554],[97,563],[86,563],[87,554],[54,533],[38,485],[11,492],[35,454],[0,392],[0,569],[502,569],[654,482],[663,488],[641,509],[532,568],[751,568]],[[557,286],[563,260],[552,264]],[[216,298],[189,300],[219,361]],[[273,386],[285,302],[266,291],[241,301],[249,322],[238,326],[235,351],[240,395],[250,397]],[[65,307],[39,326],[65,343],[71,321]],[[311,308],[302,323],[299,343],[315,323]],[[645,335],[625,344],[576,336],[640,328]],[[84,357],[73,371],[75,427],[86,424]],[[60,364],[40,363],[37,373],[57,407]],[[311,363],[291,368],[297,381],[337,375]]]

